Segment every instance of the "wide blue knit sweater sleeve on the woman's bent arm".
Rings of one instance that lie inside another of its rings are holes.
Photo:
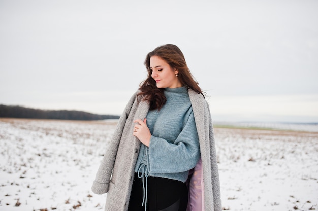
[[[151,173],[178,173],[192,169],[200,158],[199,137],[193,112],[173,143],[150,138],[149,164]]]

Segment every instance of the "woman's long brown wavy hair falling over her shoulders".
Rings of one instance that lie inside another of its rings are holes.
[[[164,89],[157,88],[155,80],[151,77],[151,56],[158,56],[165,60],[170,67],[177,69],[179,71],[178,78],[182,86],[185,86],[188,89],[193,89],[197,93],[202,94],[204,97],[202,89],[199,87],[198,82],[195,80],[189,68],[187,67],[184,55],[181,50],[176,45],[166,44],[159,46],[153,51],[149,52],[144,62],[144,65],[148,71],[148,76],[146,80],[140,83],[139,90],[141,92],[138,93],[138,96],[142,96],[142,100],[150,102],[150,110],[160,110],[167,101],[167,98],[164,95]]]

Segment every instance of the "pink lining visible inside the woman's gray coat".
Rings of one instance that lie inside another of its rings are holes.
[[[189,199],[186,210],[204,211],[204,184],[201,158],[199,159],[197,165],[190,170],[187,185],[189,190]]]

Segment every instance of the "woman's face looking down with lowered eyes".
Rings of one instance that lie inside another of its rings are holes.
[[[150,69],[152,70],[151,77],[156,81],[158,88],[177,88],[182,86],[176,76],[179,71],[171,68],[162,58],[151,56]]]

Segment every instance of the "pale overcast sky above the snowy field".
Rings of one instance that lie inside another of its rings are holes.
[[[172,43],[216,121],[318,122],[318,1],[0,0],[0,103],[121,114]]]

